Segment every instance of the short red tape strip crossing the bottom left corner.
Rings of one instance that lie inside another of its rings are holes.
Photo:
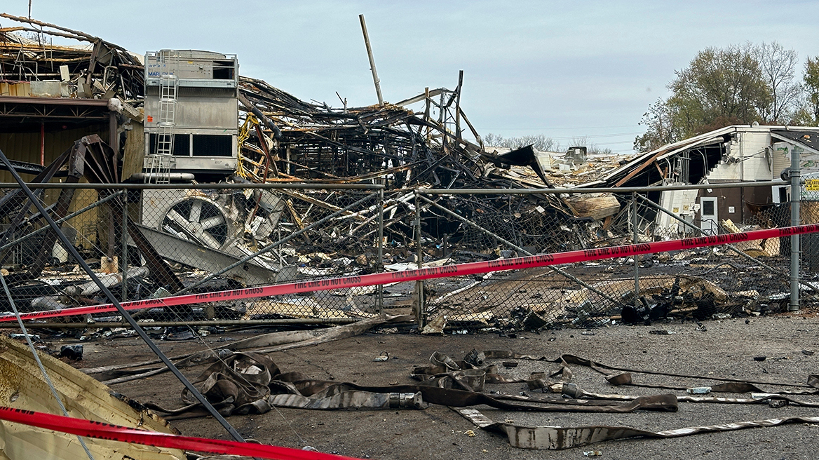
[[[290,449],[269,444],[240,443],[237,441],[209,440],[192,436],[170,435],[156,431],[143,431],[127,426],[92,422],[81,418],[63,417],[50,413],[34,412],[0,406],[0,420],[38,426],[46,430],[60,431],[100,440],[152,445],[166,449],[183,449],[197,452],[245,455],[248,457],[275,458],[277,460],[358,460],[341,455],[301,449]]]

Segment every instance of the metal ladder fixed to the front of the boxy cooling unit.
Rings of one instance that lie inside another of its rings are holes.
[[[156,133],[156,151],[151,156],[146,183],[170,183],[170,163],[174,156],[174,129],[176,128],[176,95],[179,90],[179,52],[163,50],[159,62],[159,132]]]

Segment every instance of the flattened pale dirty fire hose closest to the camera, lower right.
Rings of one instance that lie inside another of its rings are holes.
[[[474,416],[473,416],[474,417]],[[469,417],[468,417],[469,418]],[[479,419],[479,417],[474,417]],[[509,438],[509,444],[519,449],[562,450],[588,444],[628,438],[679,438],[700,433],[736,431],[746,428],[779,426],[789,423],[817,423],[819,417],[785,417],[734,422],[722,425],[687,426],[676,430],[645,431],[627,426],[516,426],[509,423],[492,423],[482,426],[498,431]]]

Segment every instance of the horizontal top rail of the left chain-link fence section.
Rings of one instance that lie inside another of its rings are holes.
[[[765,183],[762,183],[765,185]],[[378,190],[378,183],[25,183],[32,190],[40,188],[127,188],[139,190],[201,190],[211,188],[298,188],[305,190]],[[0,183],[0,188],[20,188],[19,183]]]

